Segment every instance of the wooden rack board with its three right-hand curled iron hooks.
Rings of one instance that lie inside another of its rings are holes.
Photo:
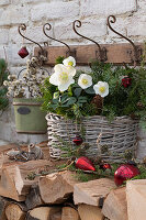
[[[114,65],[123,65],[123,63],[130,64],[130,65],[134,64],[134,66],[139,65],[144,45],[142,43],[135,44],[127,36],[124,36],[123,34],[115,31],[113,26],[111,25],[111,24],[114,24],[115,22],[116,22],[116,18],[114,15],[108,16],[106,19],[108,28],[115,34],[125,38],[128,43],[99,44],[94,40],[91,40],[88,36],[80,34],[78,32],[78,28],[81,28],[81,21],[75,20],[72,22],[74,32],[81,37],[88,41],[91,41],[93,44],[68,45],[64,43],[63,41],[59,41],[49,36],[46,33],[46,31],[50,31],[52,25],[49,23],[44,24],[43,26],[44,34],[48,38],[64,44],[64,46],[49,45],[45,47],[49,54],[49,58],[47,59],[45,64],[48,64],[49,66],[54,66],[56,57],[71,55],[76,57],[78,65],[87,65],[89,64],[91,59],[97,59],[97,58],[101,62],[112,63]],[[98,50],[97,50],[97,46],[98,46]],[[35,48],[35,55],[37,54],[38,54],[38,47]]]

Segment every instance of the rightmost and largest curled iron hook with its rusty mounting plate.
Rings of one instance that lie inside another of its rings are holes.
[[[136,46],[128,37],[124,36],[123,34],[119,33],[117,31],[115,31],[112,26],[111,23],[115,23],[116,22],[116,18],[114,15],[109,15],[108,16],[108,26],[111,31],[113,31],[115,34],[120,35],[121,37],[125,38],[126,41],[130,42],[130,44],[132,45],[133,50],[128,50],[127,54],[130,54],[131,61],[134,63],[134,66],[137,65],[137,63],[141,62],[141,56],[142,56],[142,48],[139,48],[138,46]]]

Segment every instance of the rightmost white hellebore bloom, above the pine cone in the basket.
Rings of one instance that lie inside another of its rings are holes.
[[[99,81],[93,86],[93,89],[97,95],[100,95],[101,97],[105,97],[109,95],[109,84],[105,81]]]

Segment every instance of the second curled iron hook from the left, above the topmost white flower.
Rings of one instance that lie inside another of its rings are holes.
[[[50,23],[45,23],[45,24],[43,25],[43,32],[44,32],[44,34],[45,34],[48,38],[50,38],[50,40],[53,40],[53,41],[56,41],[56,42],[59,42],[59,43],[64,44],[64,45],[67,47],[66,56],[74,56],[74,57],[76,57],[76,50],[72,50],[72,51],[71,51],[70,46],[69,46],[67,43],[65,43],[65,42],[63,42],[63,41],[59,41],[59,40],[57,40],[57,38],[54,38],[53,36],[49,36],[49,35],[46,33],[46,31],[50,31],[50,30],[52,30],[52,24],[50,24]]]

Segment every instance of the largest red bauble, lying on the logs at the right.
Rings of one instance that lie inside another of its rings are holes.
[[[139,169],[131,164],[121,165],[114,173],[114,183],[120,186],[125,180],[133,178],[139,174]]]

